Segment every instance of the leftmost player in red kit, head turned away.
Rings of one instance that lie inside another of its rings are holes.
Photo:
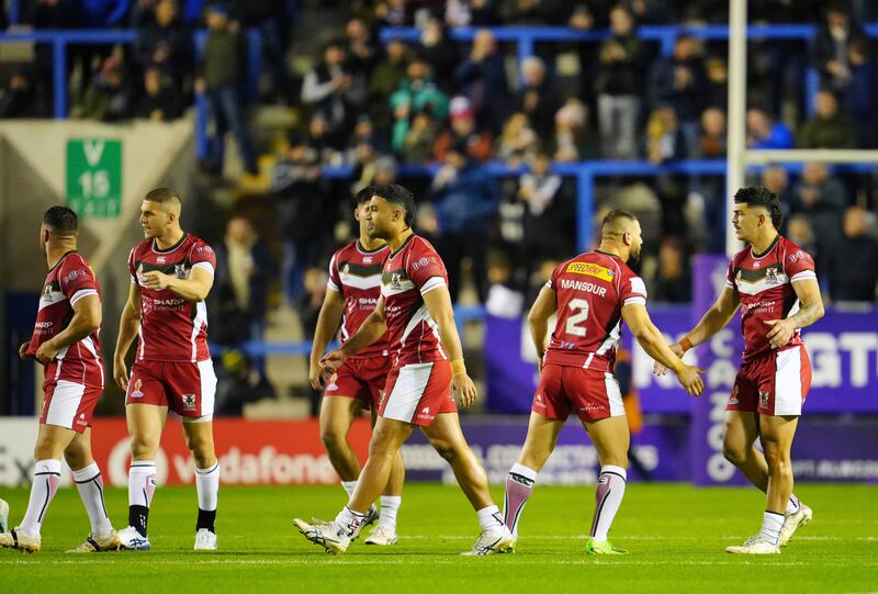
[[[40,550],[40,529],[60,481],[61,455],[91,523],[86,541],[68,552],[120,547],[104,506],[101,470],[91,456],[91,415],[103,392],[98,338],[101,290],[89,262],[77,251],[78,227],[76,213],[67,206],[52,206],[43,215],[40,247],[49,270],[34,334],[19,348],[22,359],[32,357],[45,367],[45,399],[27,512],[18,528],[0,534],[0,547],[27,552]]]

